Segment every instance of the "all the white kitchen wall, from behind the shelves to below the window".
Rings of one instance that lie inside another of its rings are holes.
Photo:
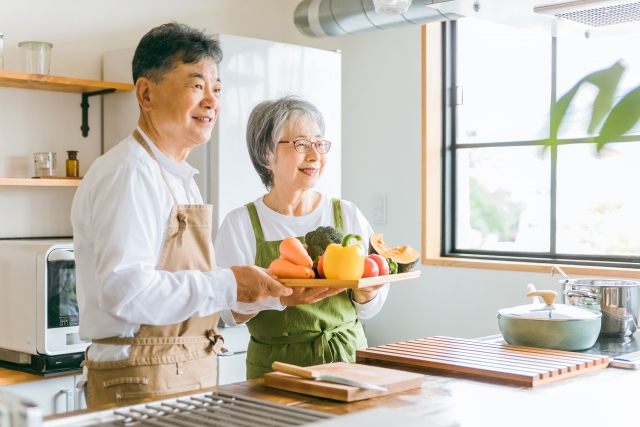
[[[355,202],[371,220],[373,193],[387,193],[388,224],[377,226],[376,231],[384,233],[389,244],[419,250],[420,29],[309,39],[292,23],[298,2],[0,0],[5,68],[18,67],[18,41],[41,39],[54,43],[52,74],[99,79],[103,52],[135,46],[149,28],[170,20],[206,27],[211,33],[341,49],[343,197]],[[41,149],[56,149],[62,158],[63,150],[79,150],[84,173],[99,150],[100,107],[92,100],[92,133],[85,140],[79,130],[79,102],[73,95],[0,88],[0,176],[28,176],[25,158]],[[28,230],[70,233],[65,218],[72,196],[70,189],[0,188],[0,237],[24,235]],[[52,199],[58,198],[54,203]],[[53,208],[44,211],[40,203]],[[51,212],[57,212],[58,220],[41,222],[40,215]],[[366,322],[370,344],[436,334],[493,334],[498,331],[497,309],[526,303],[527,283],[557,288],[556,278],[541,274],[447,267],[423,267],[422,272],[419,280],[393,285],[382,312]]]

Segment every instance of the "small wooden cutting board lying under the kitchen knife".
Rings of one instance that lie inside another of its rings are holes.
[[[356,381],[375,384],[388,389],[388,392],[368,390],[348,385],[329,383],[325,381],[307,380],[282,372],[265,374],[264,383],[267,387],[279,388],[295,393],[308,394],[342,402],[370,399],[386,396],[392,393],[422,387],[424,375],[395,369],[380,368],[378,366],[358,365],[354,363],[329,363],[326,365],[310,366],[307,369],[321,374],[330,374],[349,378]]]

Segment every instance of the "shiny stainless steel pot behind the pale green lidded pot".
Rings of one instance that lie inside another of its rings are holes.
[[[617,279],[561,280],[566,304],[602,312],[601,336],[630,336],[638,329],[640,282]]]

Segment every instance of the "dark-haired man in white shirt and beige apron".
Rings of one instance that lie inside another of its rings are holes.
[[[211,137],[221,59],[201,31],[149,31],[133,58],[138,128],[95,161],[76,193],[89,407],[214,386],[217,313],[291,293],[255,266],[215,269],[212,206],[185,159]]]

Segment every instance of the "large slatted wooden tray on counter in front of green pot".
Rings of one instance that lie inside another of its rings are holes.
[[[370,347],[358,350],[356,358],[358,361],[387,361],[500,378],[529,387],[609,366],[607,356],[450,337],[431,337]]]

